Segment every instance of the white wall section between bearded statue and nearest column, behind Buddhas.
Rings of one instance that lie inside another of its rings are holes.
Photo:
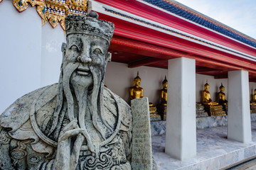
[[[129,103],[129,87],[133,86],[133,80],[137,77],[138,71],[142,79],[140,86],[144,90],[144,96],[156,105],[160,102],[160,90],[163,88],[164,76],[167,77],[167,69],[145,66],[128,68],[127,64],[110,62],[107,64],[105,85]]]

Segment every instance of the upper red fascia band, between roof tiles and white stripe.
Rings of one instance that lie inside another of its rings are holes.
[[[151,6],[142,4],[139,1],[134,1],[134,0],[130,0],[130,1],[97,0],[97,1],[101,2],[102,4],[107,4],[109,6],[113,6],[114,8],[119,8],[123,11],[133,13],[134,15],[147,18],[151,21],[156,21],[157,23],[161,23],[166,26],[170,26],[171,28],[182,30],[186,33],[196,35],[200,38],[210,40],[220,45],[224,45],[226,47],[230,47],[234,50],[238,50],[240,52],[244,52],[248,55],[252,55],[256,57],[256,49],[253,47],[244,45],[242,44],[242,42],[238,42],[237,40],[232,40],[230,38],[225,37],[224,35],[220,35],[219,33],[215,33],[213,30],[208,30],[206,28],[203,28],[202,26],[198,26],[194,23],[191,23],[191,21],[185,21],[181,18],[170,15],[169,13],[165,13],[164,11],[160,11],[160,10],[157,10],[156,8],[152,8]]]

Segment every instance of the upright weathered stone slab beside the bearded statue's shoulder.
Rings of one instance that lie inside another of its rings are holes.
[[[132,169],[152,169],[152,147],[148,98],[131,101],[132,106]]]

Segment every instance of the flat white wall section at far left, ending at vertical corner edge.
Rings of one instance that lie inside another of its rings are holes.
[[[30,6],[19,13],[11,1],[0,4],[0,113],[17,98],[40,87],[41,18]]]

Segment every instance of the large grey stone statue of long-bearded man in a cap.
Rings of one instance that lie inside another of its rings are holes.
[[[0,169],[136,169],[131,108],[104,87],[114,25],[97,17],[65,18],[58,84],[0,115]]]

